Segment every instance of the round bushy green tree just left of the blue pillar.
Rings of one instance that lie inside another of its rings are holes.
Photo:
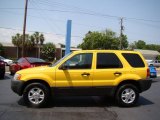
[[[49,42],[42,46],[41,53],[49,61],[53,61],[55,57],[55,49],[56,49],[55,45]]]

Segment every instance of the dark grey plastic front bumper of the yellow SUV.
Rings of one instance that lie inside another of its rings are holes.
[[[24,81],[21,80],[11,80],[11,89],[13,92],[17,93],[19,96],[23,94],[23,86],[24,86]]]

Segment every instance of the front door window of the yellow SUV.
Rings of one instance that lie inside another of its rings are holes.
[[[91,69],[92,53],[82,53],[67,60],[63,66],[67,69]]]

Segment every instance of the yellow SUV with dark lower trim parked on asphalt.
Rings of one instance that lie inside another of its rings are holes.
[[[46,105],[52,95],[113,96],[119,105],[133,106],[152,81],[139,52],[82,50],[72,52],[52,66],[18,71],[12,90],[30,107]]]

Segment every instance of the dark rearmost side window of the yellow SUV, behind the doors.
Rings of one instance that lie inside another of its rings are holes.
[[[138,54],[122,53],[122,55],[132,67],[145,67],[143,60]]]

